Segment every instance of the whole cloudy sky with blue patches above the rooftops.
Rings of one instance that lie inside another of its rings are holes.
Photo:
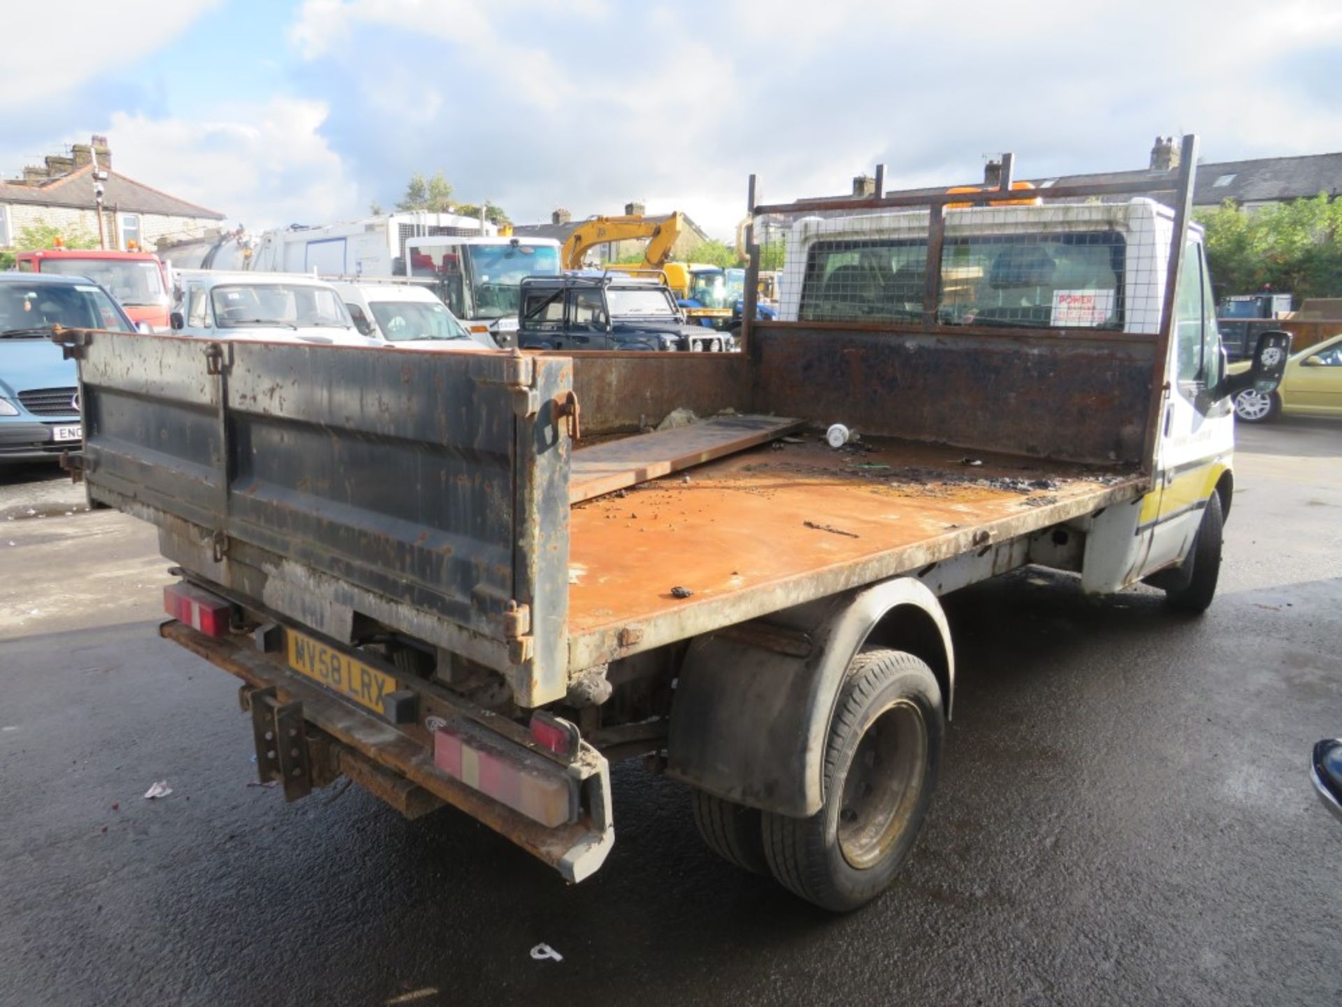
[[[957,20],[950,20],[954,16]],[[1339,0],[67,0],[7,9],[0,172],[115,168],[251,230],[391,205],[411,172],[523,223],[1342,149]],[[28,44],[24,39],[31,39]],[[48,42],[40,42],[48,39]]]

